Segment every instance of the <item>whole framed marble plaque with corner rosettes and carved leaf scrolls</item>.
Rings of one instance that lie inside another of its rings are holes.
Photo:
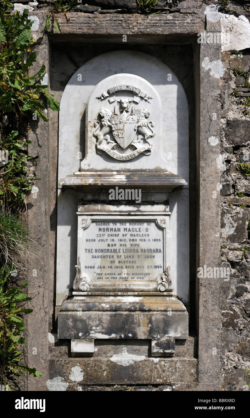
[[[80,214],[77,270],[86,278],[83,290],[157,290],[167,265],[167,225],[166,215]]]

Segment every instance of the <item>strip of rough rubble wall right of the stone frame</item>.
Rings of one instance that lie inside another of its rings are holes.
[[[243,390],[247,381],[244,368],[250,367],[250,177],[238,168],[240,163],[250,162],[250,116],[245,114],[250,109],[245,106],[250,95],[250,51],[230,54],[222,55],[227,71],[221,89],[220,140],[225,161],[221,176],[221,258],[230,268],[230,280],[223,281],[221,294],[221,367],[223,389]],[[234,69],[243,71],[245,77],[237,76]]]

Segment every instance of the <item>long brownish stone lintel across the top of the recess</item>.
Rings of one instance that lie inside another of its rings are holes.
[[[185,13],[157,15],[67,13],[57,15],[61,32],[49,32],[60,38],[63,34],[114,35],[195,35],[204,31],[204,20]]]

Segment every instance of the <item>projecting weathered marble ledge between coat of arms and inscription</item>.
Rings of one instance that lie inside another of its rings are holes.
[[[82,189],[99,187],[138,187],[140,189],[172,191],[187,186],[185,180],[169,171],[79,171],[59,181],[59,188]]]

